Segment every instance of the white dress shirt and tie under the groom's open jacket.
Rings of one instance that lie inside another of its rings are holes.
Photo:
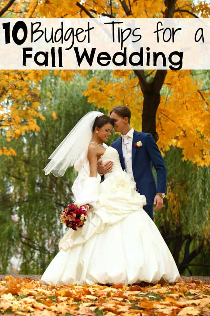
[[[122,155],[125,162],[125,171],[128,172],[133,181],[133,170],[132,170],[132,142],[133,142],[133,127],[128,131],[126,135],[122,135]]]

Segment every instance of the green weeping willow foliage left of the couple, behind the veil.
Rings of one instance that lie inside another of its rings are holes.
[[[54,177],[51,173],[45,176],[43,168],[77,121],[88,111],[96,110],[82,96],[86,87],[87,78],[80,75],[70,83],[53,74],[45,76],[39,86],[42,100],[39,110],[46,121],[38,120],[40,132],[30,131],[12,140],[17,157],[1,157],[0,271],[3,274],[8,273],[10,259],[15,254],[20,255],[19,273],[37,274],[43,273],[58,252],[59,240],[67,229],[60,223],[60,213],[64,204],[72,201],[71,186],[76,171],[68,168],[64,177]]]

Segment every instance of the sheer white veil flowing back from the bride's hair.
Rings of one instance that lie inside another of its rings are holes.
[[[91,111],[79,120],[60,145],[58,145],[49,156],[48,159],[51,159],[51,161],[43,169],[45,175],[52,172],[55,177],[62,177],[66,169],[74,165],[80,155],[87,151],[92,137],[94,121],[101,115],[104,115],[104,113]]]

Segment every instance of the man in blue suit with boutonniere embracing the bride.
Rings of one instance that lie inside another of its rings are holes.
[[[127,106],[114,107],[110,117],[114,120],[115,132],[121,133],[111,146],[118,151],[122,169],[132,176],[137,191],[145,195],[147,204],[143,209],[153,220],[153,205],[156,205],[155,210],[160,210],[167,192],[167,171],[160,150],[151,134],[134,131],[130,126],[131,111]],[[109,172],[112,165],[111,161],[99,164],[99,173]],[[157,188],[151,165],[156,169]]]

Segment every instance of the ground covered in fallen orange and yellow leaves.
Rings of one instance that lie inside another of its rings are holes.
[[[210,285],[201,281],[124,286],[41,285],[6,276],[0,281],[3,315],[210,316]]]

